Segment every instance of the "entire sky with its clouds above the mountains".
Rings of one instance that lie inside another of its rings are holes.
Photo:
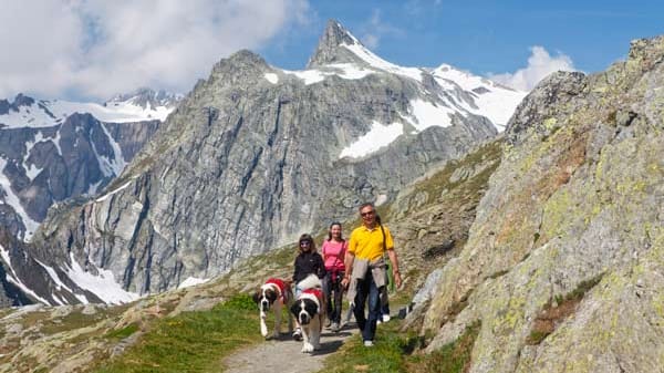
[[[604,70],[632,39],[664,34],[663,3],[0,0],[0,99],[104,101],[139,86],[186,93],[240,49],[303,69],[328,19],[393,63],[447,63],[530,89],[552,70]]]

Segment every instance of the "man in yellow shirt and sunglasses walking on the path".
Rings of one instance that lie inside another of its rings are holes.
[[[381,288],[387,284],[385,261],[383,255],[392,262],[392,273],[396,287],[401,287],[402,279],[398,271],[398,260],[394,252],[394,241],[390,229],[376,220],[376,209],[373,204],[360,206],[362,226],[355,228],[349,240],[345,255],[346,273],[342,280],[344,287],[352,284],[356,289],[353,313],[357,328],[362,332],[365,346],[372,346],[376,334],[376,321],[381,317]],[[364,315],[364,307],[369,303],[369,319]]]

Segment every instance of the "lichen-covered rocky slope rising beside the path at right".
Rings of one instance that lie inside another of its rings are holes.
[[[468,244],[443,268],[427,350],[481,321],[470,372],[654,372],[663,366],[664,38],[606,72],[558,73],[510,121]],[[549,302],[601,276],[539,344]],[[461,299],[467,307],[448,321]]]

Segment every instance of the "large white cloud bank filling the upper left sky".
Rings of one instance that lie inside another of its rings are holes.
[[[0,97],[187,92],[212,64],[307,22],[307,0],[0,0]]]

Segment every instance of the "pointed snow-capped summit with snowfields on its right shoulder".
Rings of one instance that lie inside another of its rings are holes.
[[[407,68],[385,61],[335,20],[328,22],[307,70],[281,72],[294,74],[305,84],[318,83],[331,75],[363,79],[371,74],[393,74],[413,80],[421,97],[413,100],[411,110],[402,116],[416,132],[432,125],[448,126],[452,116],[457,114],[485,116],[500,132],[527,94],[448,64],[435,69]],[[266,79],[277,84],[278,75],[268,73]],[[380,128],[393,128],[393,125],[383,124],[375,131]],[[385,138],[392,137],[394,134]]]

